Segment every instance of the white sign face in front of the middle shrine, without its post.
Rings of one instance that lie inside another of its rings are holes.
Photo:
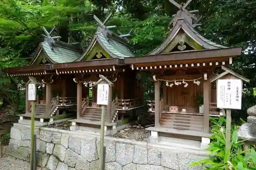
[[[97,85],[97,105],[108,105],[109,101],[109,85]]]

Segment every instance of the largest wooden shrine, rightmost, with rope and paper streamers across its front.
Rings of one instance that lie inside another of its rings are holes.
[[[223,115],[216,107],[216,87],[210,83],[214,71],[232,64],[241,55],[241,47],[226,47],[201,36],[195,29],[197,11],[188,11],[188,1],[170,24],[167,38],[151,53],[125,58],[133,70],[151,72],[155,83],[155,99],[148,101],[149,111],[155,114],[152,139],[174,136],[209,142],[209,116]],[[193,12],[193,13],[191,13]],[[201,99],[200,99],[201,98]],[[196,101],[198,100],[198,101]],[[200,105],[203,109],[200,112]]]

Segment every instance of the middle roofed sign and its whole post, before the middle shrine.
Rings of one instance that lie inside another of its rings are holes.
[[[113,85],[104,76],[99,75],[100,80],[96,82],[97,85],[97,105],[101,105],[101,133],[100,133],[100,165],[99,168],[104,170],[104,132],[105,132],[105,114],[106,106],[109,104],[109,91]]]

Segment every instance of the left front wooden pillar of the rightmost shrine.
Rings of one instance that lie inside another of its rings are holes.
[[[155,82],[155,127],[159,127],[160,115],[160,82]]]

